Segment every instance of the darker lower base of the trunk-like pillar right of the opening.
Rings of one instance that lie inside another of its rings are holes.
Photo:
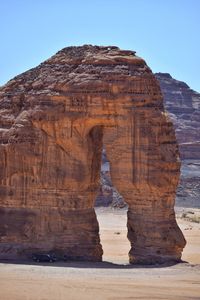
[[[161,208],[159,201],[149,207],[128,209],[128,239],[131,243],[130,263],[154,264],[178,262],[185,246],[184,236],[177,226],[173,208]]]

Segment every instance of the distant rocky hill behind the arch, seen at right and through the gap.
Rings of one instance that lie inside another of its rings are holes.
[[[176,205],[200,207],[200,93],[168,73],[156,73],[165,108],[174,123],[182,161]],[[112,186],[109,162],[102,157],[101,188],[96,205],[123,207],[123,198]]]

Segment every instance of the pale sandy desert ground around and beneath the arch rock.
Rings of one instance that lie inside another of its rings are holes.
[[[0,264],[0,300],[200,299],[200,224],[180,218],[187,239],[181,263],[128,265],[126,211],[97,209],[103,263]],[[192,215],[193,217],[193,215]]]

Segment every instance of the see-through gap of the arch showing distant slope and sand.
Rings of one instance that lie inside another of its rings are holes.
[[[128,205],[112,183],[110,162],[104,146],[101,156],[100,186],[95,201],[103,261],[128,263],[130,242],[127,238],[127,210]]]

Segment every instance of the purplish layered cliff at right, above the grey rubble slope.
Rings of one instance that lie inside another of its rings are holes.
[[[156,73],[173,121],[181,159],[200,159],[200,94],[168,73]]]

